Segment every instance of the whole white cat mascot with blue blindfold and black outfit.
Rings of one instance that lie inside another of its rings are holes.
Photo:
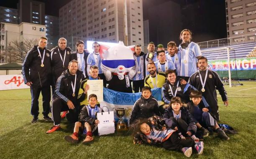
[[[133,52],[134,45],[125,46],[122,41],[112,47],[100,45],[101,69],[109,89],[132,93],[131,80],[136,74]]]

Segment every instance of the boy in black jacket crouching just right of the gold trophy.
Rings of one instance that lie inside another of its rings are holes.
[[[134,103],[131,117],[128,119],[128,125],[130,126],[135,123],[136,119],[149,118],[153,115],[160,116],[158,102],[151,96],[151,89],[144,86],[141,92],[141,98]]]

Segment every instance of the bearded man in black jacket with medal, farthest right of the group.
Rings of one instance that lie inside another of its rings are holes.
[[[225,91],[218,73],[207,69],[207,58],[204,56],[198,58],[197,66],[199,67],[199,70],[190,76],[189,84],[201,91],[202,96],[205,97],[206,101],[210,105],[210,114],[216,119],[216,121],[219,121],[219,107],[216,89],[218,89],[220,93],[224,106],[228,106],[227,92]]]

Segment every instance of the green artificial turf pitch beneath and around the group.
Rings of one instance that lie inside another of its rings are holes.
[[[228,124],[238,131],[229,141],[219,139],[216,134],[204,141],[202,155],[191,158],[203,159],[253,159],[256,156],[256,82],[242,82],[243,86],[229,88],[229,106],[223,106],[218,95],[220,123]],[[249,89],[251,88],[251,89]],[[182,159],[181,152],[167,151],[161,147],[134,145],[128,134],[94,136],[90,145],[69,144],[64,136],[73,132],[73,125],[66,119],[61,129],[52,134],[46,131],[53,126],[44,121],[39,99],[39,121],[31,124],[31,95],[29,89],[0,91],[0,158],[85,158],[85,159]],[[51,114],[49,114],[51,115]],[[82,138],[80,138],[82,140]]]

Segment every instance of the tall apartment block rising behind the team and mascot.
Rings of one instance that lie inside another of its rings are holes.
[[[124,6],[124,0],[72,0],[59,10],[60,36],[67,38],[69,45],[72,37],[124,41]],[[143,44],[142,0],[127,0],[126,7],[128,45]]]

